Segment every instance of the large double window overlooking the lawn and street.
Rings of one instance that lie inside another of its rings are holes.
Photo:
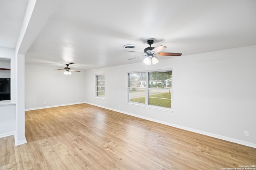
[[[172,108],[172,71],[129,73],[129,102]]]

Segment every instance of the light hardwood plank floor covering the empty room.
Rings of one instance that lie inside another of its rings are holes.
[[[26,111],[28,143],[0,138],[0,169],[221,170],[256,149],[88,104]]]

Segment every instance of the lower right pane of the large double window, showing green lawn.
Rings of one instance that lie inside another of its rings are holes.
[[[171,108],[171,90],[150,88],[148,96],[148,104],[154,106]]]

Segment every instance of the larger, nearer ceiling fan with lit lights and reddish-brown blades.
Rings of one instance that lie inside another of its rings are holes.
[[[156,57],[156,55],[161,55],[161,56],[181,56],[182,53],[159,53],[160,51],[164,50],[166,48],[166,46],[160,45],[158,47],[151,47],[151,44],[154,43],[154,40],[150,39],[147,41],[149,47],[144,49],[144,53],[141,52],[137,52],[137,51],[126,51],[126,52],[132,52],[132,53],[141,53],[142,56],[139,57],[144,57],[146,56],[146,58],[144,59],[144,63],[147,65],[152,64],[156,64],[158,63],[158,58]],[[139,57],[134,57],[132,59],[136,59]],[[132,59],[128,59],[128,60],[132,60]]]

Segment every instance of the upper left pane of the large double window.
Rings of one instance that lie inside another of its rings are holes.
[[[146,72],[129,73],[129,87],[145,87]]]

